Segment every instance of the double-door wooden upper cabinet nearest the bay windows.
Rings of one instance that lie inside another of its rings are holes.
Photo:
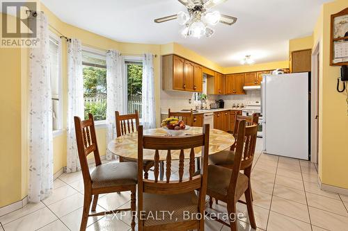
[[[177,55],[162,56],[162,80],[164,90],[202,92],[202,68]]]

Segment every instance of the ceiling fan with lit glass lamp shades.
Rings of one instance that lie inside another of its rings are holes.
[[[155,19],[155,22],[168,22],[177,19],[180,25],[185,25],[181,31],[184,37],[211,37],[214,34],[213,28],[219,22],[231,26],[237,22],[237,17],[222,15],[219,11],[212,11],[212,8],[227,0],[178,0],[187,7],[186,12],[178,12],[176,15],[169,15]]]

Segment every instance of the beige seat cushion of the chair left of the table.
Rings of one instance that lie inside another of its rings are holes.
[[[134,162],[110,162],[100,164],[92,173],[92,188],[112,187],[120,185],[136,185],[138,167]]]

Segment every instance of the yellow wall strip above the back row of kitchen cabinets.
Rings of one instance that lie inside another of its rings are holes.
[[[249,71],[264,71],[278,68],[289,68],[289,61],[257,63],[254,65],[243,65],[239,67],[225,67],[223,74],[243,73]]]

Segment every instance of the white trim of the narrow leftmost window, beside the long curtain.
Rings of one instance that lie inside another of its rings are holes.
[[[53,33],[52,31],[49,31],[49,38],[57,42],[58,44],[58,99],[59,99],[59,105],[58,105],[58,124],[59,129],[53,130],[53,137],[58,137],[59,135],[63,134],[63,67],[62,67],[62,41],[61,37]]]

